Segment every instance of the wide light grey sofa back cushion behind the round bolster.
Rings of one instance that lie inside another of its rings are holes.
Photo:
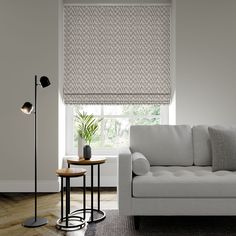
[[[193,165],[192,131],[187,125],[130,127],[131,152],[141,152],[150,165]]]

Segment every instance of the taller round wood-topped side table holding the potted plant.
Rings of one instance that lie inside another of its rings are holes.
[[[87,165],[87,166],[90,166],[91,167],[91,208],[86,208],[86,212],[88,213],[91,213],[91,217],[89,220],[87,220],[88,223],[92,223],[92,222],[99,222],[103,219],[105,219],[106,217],[106,214],[104,211],[102,211],[100,209],[100,165],[105,163],[106,162],[106,158],[102,158],[102,157],[92,157],[91,159],[89,160],[85,160],[85,159],[78,159],[78,160],[75,160],[75,159],[69,159],[67,160],[67,164],[68,164],[68,167],[70,167],[70,165]],[[94,174],[93,174],[93,171],[94,171],[94,166],[97,166],[98,168],[98,185],[97,185],[97,188],[98,188],[98,206],[97,206],[97,209],[94,208],[94,202],[93,202],[93,195],[94,195],[94,181],[93,181],[93,177],[94,177]],[[81,212],[83,211],[83,209],[79,209],[79,210],[76,210],[74,212],[72,212],[71,214],[72,215],[76,215],[76,214],[80,214]],[[96,213],[96,216],[94,215],[94,213]]]

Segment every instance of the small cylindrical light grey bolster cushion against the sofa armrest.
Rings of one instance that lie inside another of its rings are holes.
[[[145,175],[150,170],[149,161],[142,153],[132,154],[132,170],[135,175]]]

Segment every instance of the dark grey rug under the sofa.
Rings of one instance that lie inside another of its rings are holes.
[[[117,210],[87,226],[85,236],[236,236],[235,216],[142,216],[140,229],[134,229],[131,216]]]

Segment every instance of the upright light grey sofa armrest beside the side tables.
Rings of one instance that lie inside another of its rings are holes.
[[[132,159],[130,149],[120,150],[118,157],[118,207],[119,214],[131,215]]]

